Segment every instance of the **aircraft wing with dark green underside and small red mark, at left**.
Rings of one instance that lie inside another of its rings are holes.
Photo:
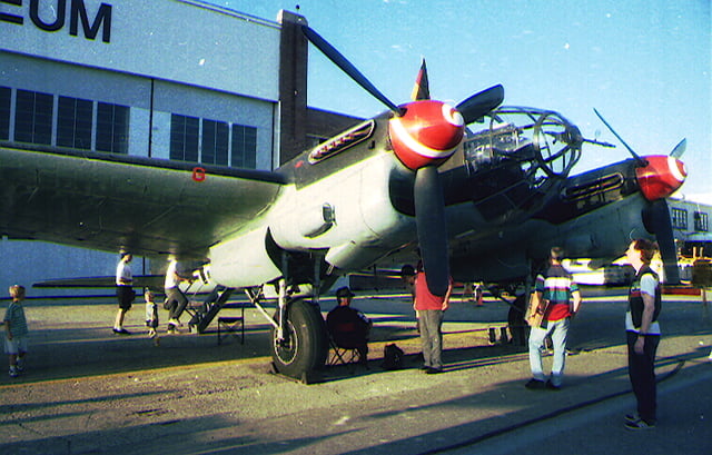
[[[201,259],[284,184],[269,171],[0,145],[0,234]]]

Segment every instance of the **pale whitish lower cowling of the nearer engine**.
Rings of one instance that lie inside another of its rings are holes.
[[[318,166],[318,165],[315,165]],[[397,212],[389,198],[395,161],[374,156],[303,187],[283,191],[269,228],[279,248],[319,251],[342,270],[358,270],[407,241],[414,220]]]

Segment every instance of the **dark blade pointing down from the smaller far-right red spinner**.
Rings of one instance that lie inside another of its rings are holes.
[[[660,256],[663,259],[665,270],[665,283],[669,285],[680,284],[680,269],[678,268],[678,249],[670,220],[670,209],[665,199],[652,201],[643,209],[643,222],[645,228],[655,234],[655,241],[660,248]]]

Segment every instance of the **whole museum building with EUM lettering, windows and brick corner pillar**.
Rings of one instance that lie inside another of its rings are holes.
[[[307,107],[300,23],[194,0],[0,1],[0,147],[275,169],[358,121]],[[0,256],[2,288],[117,261],[7,237]]]

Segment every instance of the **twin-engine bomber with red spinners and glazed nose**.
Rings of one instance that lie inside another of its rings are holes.
[[[0,144],[0,233],[208,264],[206,310],[248,290],[274,327],[276,369],[299,378],[328,354],[318,295],[342,275],[418,253],[432,293],[444,295],[451,275],[523,283],[553,245],[615,258],[632,237],[654,237],[668,283],[678,281],[665,198],[686,176],[684,141],[671,156],[631,150],[570,177],[584,142],[605,144],[561,115],[498,108],[502,86],[456,107],[423,95],[396,106],[303,31],[388,110],[275,171]],[[259,303],[267,284],[279,295],[274,316]],[[299,285],[315,301],[296,297]]]

